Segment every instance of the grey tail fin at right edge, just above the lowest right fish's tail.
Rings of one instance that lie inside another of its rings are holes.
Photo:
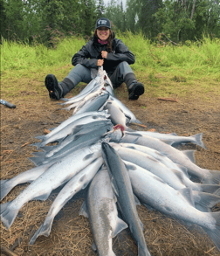
[[[220,203],[219,196],[201,191],[192,191],[192,197],[200,211],[210,211],[210,208]]]

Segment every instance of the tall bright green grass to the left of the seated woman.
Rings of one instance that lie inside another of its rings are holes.
[[[78,52],[83,39],[65,38],[56,48],[48,49],[45,45],[28,45],[3,39],[1,51],[2,74],[17,74],[19,71],[44,69],[45,66],[65,66],[71,63],[72,56]]]

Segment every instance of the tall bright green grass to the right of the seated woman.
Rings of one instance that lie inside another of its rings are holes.
[[[143,67],[155,68],[157,72],[181,70],[183,73],[195,75],[219,73],[220,68],[220,39],[203,41],[187,45],[156,45],[145,39],[142,34],[132,34],[127,31],[120,38],[134,52],[136,62],[134,69]]]

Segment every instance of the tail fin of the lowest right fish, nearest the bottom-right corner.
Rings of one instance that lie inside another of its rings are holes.
[[[208,234],[213,243],[217,246],[217,249],[220,251],[220,212],[210,212],[211,217],[216,220],[216,229],[209,230],[203,227],[203,230]]]

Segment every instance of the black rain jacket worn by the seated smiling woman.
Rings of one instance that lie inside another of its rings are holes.
[[[132,52],[130,52],[126,45],[120,39],[115,38],[113,33],[113,52],[107,53],[107,59],[104,59],[103,68],[106,70],[108,75],[111,75],[116,67],[122,61],[127,61],[127,63],[134,64],[135,57]],[[88,68],[97,68],[98,59],[103,59],[101,57],[101,52],[107,51],[107,45],[101,45],[98,42],[98,38],[94,36],[82,46],[81,50],[74,54],[72,57],[72,65],[76,66],[81,64]]]

